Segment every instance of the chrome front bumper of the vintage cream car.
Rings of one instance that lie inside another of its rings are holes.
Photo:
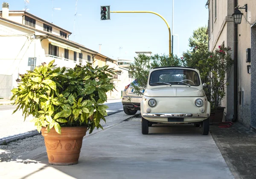
[[[209,114],[143,113],[143,117],[209,117]]]

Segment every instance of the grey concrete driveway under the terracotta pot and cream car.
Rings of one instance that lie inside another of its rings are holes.
[[[142,135],[140,125],[126,121],[85,137],[77,165],[48,165],[41,148],[1,162],[0,168],[8,170],[0,178],[234,178],[210,134],[203,136],[192,125],[157,125]]]

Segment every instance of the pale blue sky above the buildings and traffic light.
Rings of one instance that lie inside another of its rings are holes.
[[[174,34],[179,35],[179,54],[189,49],[193,30],[206,26],[207,0],[174,0]],[[10,10],[22,10],[24,0],[5,0]],[[3,3],[3,2],[2,2]],[[76,0],[53,0],[53,23],[73,32]],[[154,14],[111,13],[111,20],[100,20],[100,6],[111,11],[154,11],[161,14],[172,29],[172,0],[78,0],[75,32],[70,40],[116,59],[133,60],[135,51],[169,53],[169,33],[165,22]],[[30,0],[28,12],[52,22],[52,0]],[[174,54],[177,54],[177,36]],[[121,48],[120,48],[121,47]]]

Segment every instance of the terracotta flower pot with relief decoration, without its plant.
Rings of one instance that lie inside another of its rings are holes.
[[[58,134],[54,128],[47,133],[46,128],[43,127],[41,132],[44,136],[49,164],[77,164],[86,130],[86,126],[62,127],[61,134]]]

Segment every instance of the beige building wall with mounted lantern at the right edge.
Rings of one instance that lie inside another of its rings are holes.
[[[227,118],[233,119],[237,113],[239,122],[253,128],[256,126],[256,1],[237,0],[237,4],[234,3],[234,0],[207,1],[209,51],[214,51],[221,44],[232,49],[232,58],[237,68],[231,68],[231,71],[227,72],[230,85],[226,88],[226,97],[222,105],[226,107]],[[243,16],[241,24],[235,28],[232,16],[234,9],[245,4],[247,10],[239,9]],[[237,34],[234,29],[237,29]],[[248,58],[250,60],[247,60]],[[237,86],[234,86],[234,79],[237,79]],[[236,102],[234,97],[237,98]]]

